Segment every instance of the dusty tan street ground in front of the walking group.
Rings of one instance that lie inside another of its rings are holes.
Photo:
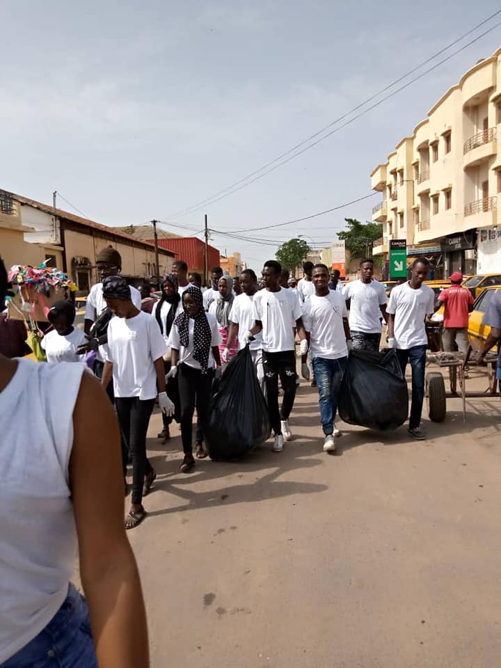
[[[484,387],[470,381],[470,389]],[[161,446],[130,537],[154,668],[493,668],[501,656],[501,402],[448,402],[429,439],[343,425],[321,450],[303,385],[294,440],[178,472]]]

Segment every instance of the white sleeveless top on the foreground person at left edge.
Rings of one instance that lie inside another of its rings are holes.
[[[0,664],[47,626],[77,556],[68,465],[84,365],[19,360],[0,392]]]

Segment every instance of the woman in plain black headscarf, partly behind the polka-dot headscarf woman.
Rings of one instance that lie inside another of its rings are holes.
[[[177,292],[177,285],[177,276],[174,276],[172,273],[167,274],[167,276],[162,281],[161,298],[156,304],[154,304],[152,310],[152,316],[157,320],[158,326],[167,346],[167,353],[164,355],[164,367],[166,374],[168,374],[170,371],[170,347],[168,343],[170,330],[172,329],[173,322],[175,321],[176,317],[183,311],[181,296]],[[170,438],[170,423],[173,420],[180,422],[179,388],[177,386],[177,378],[175,377],[168,379],[167,396],[171,401],[174,402],[175,412],[174,415],[165,415],[165,413],[162,413],[164,429],[160,432],[158,438],[164,438],[164,440],[168,440],[168,438]]]

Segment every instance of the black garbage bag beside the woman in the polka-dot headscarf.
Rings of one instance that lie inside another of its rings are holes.
[[[268,407],[248,346],[214,383],[204,436],[211,459],[239,459],[269,437]]]

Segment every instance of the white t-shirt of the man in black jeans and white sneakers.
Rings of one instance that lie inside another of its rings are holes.
[[[301,318],[301,305],[295,290],[256,292],[253,300],[255,320],[262,322],[262,348],[269,353],[294,350],[294,327]]]

